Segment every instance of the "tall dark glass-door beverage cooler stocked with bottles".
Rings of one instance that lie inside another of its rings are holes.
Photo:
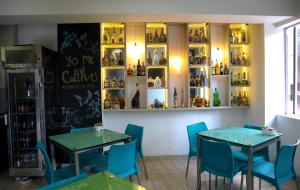
[[[46,142],[44,75],[49,72],[44,67],[55,59],[53,55],[52,50],[34,45],[1,48],[8,100],[10,176],[43,175],[43,157],[36,143]]]

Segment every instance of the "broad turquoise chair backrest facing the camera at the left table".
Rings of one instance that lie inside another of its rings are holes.
[[[136,140],[122,145],[112,145],[108,151],[107,169],[120,177],[127,177],[136,171]],[[134,172],[130,172],[134,171]]]

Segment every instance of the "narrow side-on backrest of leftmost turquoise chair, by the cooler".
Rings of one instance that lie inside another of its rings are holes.
[[[48,184],[51,184],[54,182],[54,172],[53,172],[51,161],[48,157],[47,151],[42,141],[37,142],[37,148],[41,151],[41,153],[44,156],[44,161],[45,161],[44,178],[47,180]]]

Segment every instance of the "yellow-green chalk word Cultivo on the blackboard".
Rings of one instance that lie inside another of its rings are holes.
[[[64,71],[61,75],[63,83],[81,83],[81,82],[97,82],[98,75],[97,73],[82,73],[80,69],[74,69],[72,71]]]

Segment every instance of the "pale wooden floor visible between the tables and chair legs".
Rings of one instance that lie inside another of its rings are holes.
[[[185,157],[151,157],[146,158],[146,167],[149,179],[145,179],[143,167],[140,167],[142,174],[140,174],[141,185],[148,190],[195,190],[196,189],[196,160],[192,159],[190,163],[189,175],[185,178],[185,169],[187,159]],[[141,163],[140,163],[141,164]],[[141,165],[140,165],[141,166]],[[212,177],[212,189],[214,187],[214,179]],[[137,178],[133,177],[133,181],[137,183]],[[8,177],[7,172],[0,174],[0,190],[34,190],[36,187],[42,186],[45,181],[41,178],[34,179],[31,183],[22,185],[12,177]],[[202,189],[208,189],[208,174],[202,174]],[[240,175],[234,179],[233,189],[240,188]],[[223,179],[219,178],[218,188],[224,189]],[[227,186],[228,189],[228,186]],[[245,185],[244,188],[246,189]],[[255,187],[258,189],[258,179],[255,178]],[[270,184],[262,181],[262,189],[275,189]],[[282,190],[295,190],[296,185],[293,181],[288,182]]]

